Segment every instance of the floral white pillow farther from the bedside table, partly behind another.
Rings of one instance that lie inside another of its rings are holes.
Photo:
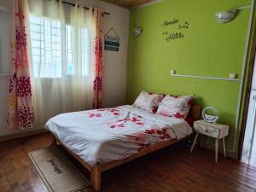
[[[143,90],[133,103],[133,106],[141,108],[149,113],[156,113],[158,104],[163,98],[163,95],[148,93]]]

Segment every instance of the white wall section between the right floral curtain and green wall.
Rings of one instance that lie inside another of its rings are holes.
[[[130,11],[98,0],[69,0],[84,2],[88,7],[100,7],[111,15],[104,16],[103,33],[113,27],[120,38],[119,52],[105,51],[103,79],[103,107],[115,107],[126,101],[126,61],[129,38]]]

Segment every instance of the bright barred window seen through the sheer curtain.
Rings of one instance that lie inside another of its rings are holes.
[[[30,26],[35,78],[87,75],[89,34],[86,28],[66,25],[62,32],[60,20],[34,15],[30,16]],[[79,62],[82,68],[77,67]]]

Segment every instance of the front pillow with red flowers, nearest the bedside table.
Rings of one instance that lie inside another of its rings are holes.
[[[189,114],[189,108],[194,96],[165,96],[159,103],[156,113],[174,117],[177,119],[185,119]]]

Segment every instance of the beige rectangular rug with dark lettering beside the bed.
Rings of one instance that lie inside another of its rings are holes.
[[[50,192],[75,192],[90,185],[56,146],[33,151],[28,156]]]

